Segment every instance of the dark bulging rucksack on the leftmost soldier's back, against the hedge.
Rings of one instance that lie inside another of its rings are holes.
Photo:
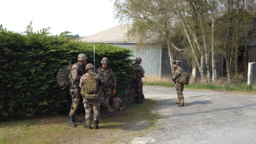
[[[57,86],[62,90],[68,88],[71,85],[71,78],[71,61],[69,61],[69,64],[67,66],[63,66],[62,68],[60,68],[60,70],[57,73]]]

